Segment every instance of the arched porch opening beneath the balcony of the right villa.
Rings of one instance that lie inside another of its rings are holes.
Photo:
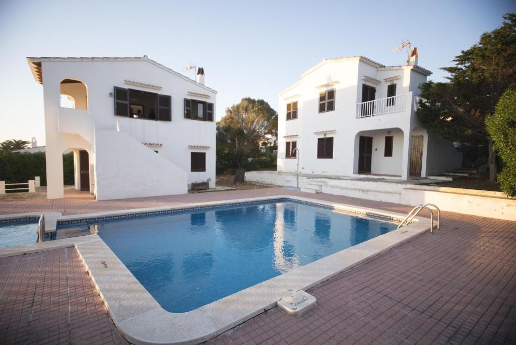
[[[353,173],[402,176],[403,138],[400,128],[364,130],[355,136]]]

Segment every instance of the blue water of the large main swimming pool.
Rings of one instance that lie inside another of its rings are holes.
[[[288,201],[97,225],[111,250],[173,313],[196,309],[396,228]]]

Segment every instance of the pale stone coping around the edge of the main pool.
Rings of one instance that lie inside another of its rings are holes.
[[[337,206],[338,208],[370,211],[377,215],[389,215],[398,219],[405,217],[401,213],[327,202],[296,195],[270,195],[260,198],[96,212],[88,213],[87,217],[121,215],[135,211],[195,209],[196,206],[230,206],[239,202],[276,199],[291,199]],[[85,214],[63,216],[60,219],[84,217]],[[98,235],[3,248],[0,249],[0,257],[75,247],[91,274],[94,286],[104,300],[108,313],[124,338],[137,344],[191,344],[212,339],[263,313],[263,311],[275,307],[283,291],[310,289],[337,274],[360,265],[365,260],[380,255],[396,245],[424,233],[429,229],[429,224],[427,222],[424,223],[428,225],[423,224],[422,220],[427,219],[416,217],[414,223],[336,252],[308,265],[297,267],[292,271],[270,278],[187,313],[170,313],[163,309]],[[170,327],[172,324],[174,327]]]

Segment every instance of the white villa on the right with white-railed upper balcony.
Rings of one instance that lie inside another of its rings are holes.
[[[448,140],[418,121],[430,71],[363,56],[324,59],[279,94],[278,171],[409,179],[460,168]],[[299,151],[295,151],[297,148]]]

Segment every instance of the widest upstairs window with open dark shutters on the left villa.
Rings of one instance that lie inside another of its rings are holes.
[[[172,121],[172,97],[115,86],[115,115],[134,119]]]

